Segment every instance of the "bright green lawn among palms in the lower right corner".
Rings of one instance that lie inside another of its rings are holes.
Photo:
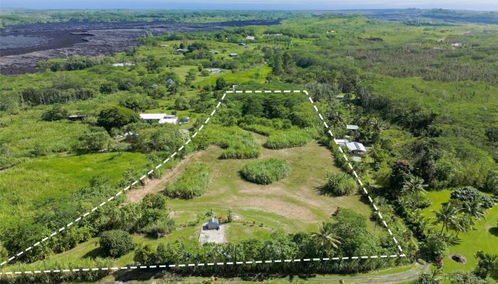
[[[440,204],[450,200],[450,190],[441,190],[437,192],[427,192],[427,197],[433,200],[430,207],[423,210],[426,217],[434,217],[434,213],[430,210],[438,211]],[[450,258],[445,258],[444,271],[451,272],[456,270],[472,271],[477,265],[477,259],[474,254],[477,251],[485,251],[487,253],[498,254],[498,207],[495,205],[492,209],[486,210],[486,219],[481,221],[475,220],[474,229],[466,233],[461,232],[458,237],[461,243],[457,246],[450,247],[450,254],[460,254],[467,258],[467,263],[460,264],[452,261]],[[439,231],[441,226],[435,226],[435,231]],[[455,234],[455,231],[452,231]]]

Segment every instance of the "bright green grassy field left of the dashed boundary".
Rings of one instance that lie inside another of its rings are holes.
[[[27,160],[0,171],[0,219],[7,222],[29,216],[33,204],[42,199],[69,198],[96,175],[116,185],[124,170],[131,166],[145,170],[145,165],[147,158],[142,153],[55,154]]]

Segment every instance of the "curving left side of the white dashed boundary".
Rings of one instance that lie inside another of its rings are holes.
[[[223,93],[223,97],[221,97],[221,101],[223,101],[223,99],[225,99],[226,93],[227,93],[227,92]],[[213,115],[216,113],[216,109],[220,107],[220,105],[221,105],[221,101],[219,101],[219,102],[218,102],[218,104],[216,104],[216,107],[215,107],[215,108],[213,109],[213,111],[211,112],[211,116],[213,116]],[[201,127],[198,129],[198,131],[201,131],[201,130],[203,129],[204,125],[206,125],[206,124],[209,122],[209,119],[210,119],[210,117],[208,117],[208,119],[206,119],[206,121],[204,121],[204,124],[203,124],[203,125],[201,125]],[[198,131],[196,131],[196,133],[194,134],[194,136],[192,136],[193,138],[197,135]],[[190,142],[191,142],[191,139],[189,139],[188,141],[186,141],[186,142],[184,143],[184,145],[183,145],[183,146],[181,146],[181,147],[178,149],[178,151],[182,151],[182,150],[185,148],[185,146],[186,146],[187,144],[189,144]],[[177,154],[177,152],[173,153],[170,157],[171,157],[171,158],[174,158],[174,156],[175,156],[176,154]],[[169,161],[169,160],[170,160],[170,158],[167,158],[166,160],[164,160],[164,161],[163,161],[163,163],[168,163],[168,161]],[[160,167],[161,167],[161,164],[157,165],[157,166],[155,167],[155,169],[158,169],[158,168],[160,168]],[[147,174],[146,174],[146,175],[142,175],[142,177],[140,177],[138,180],[135,180],[134,182],[132,182],[132,185],[127,186],[127,187],[124,187],[124,189],[123,189],[123,190],[120,190],[120,191],[119,191],[119,192],[117,192],[115,195],[113,195],[113,196],[109,197],[109,198],[107,199],[107,202],[110,202],[110,201],[114,200],[116,196],[121,195],[121,194],[122,194],[122,192],[125,192],[125,191],[129,190],[131,187],[134,187],[135,185],[137,185],[137,184],[139,183],[139,180],[144,180],[145,178],[147,178],[147,176],[152,175],[152,173],[154,173],[154,169],[149,170],[149,172],[147,172]],[[47,241],[48,239],[52,238],[52,237],[53,237],[53,236],[55,236],[56,234],[61,233],[61,232],[62,232],[62,231],[64,231],[67,227],[69,227],[69,226],[73,225],[75,222],[80,222],[80,220],[81,220],[82,218],[85,218],[85,217],[87,217],[88,215],[90,215],[92,212],[97,211],[97,209],[99,209],[99,207],[104,206],[105,204],[107,204],[107,202],[102,202],[102,203],[100,203],[98,206],[93,207],[93,208],[92,208],[92,210],[90,210],[90,212],[86,212],[86,213],[85,213],[85,214],[83,214],[81,217],[78,217],[77,219],[75,219],[73,222],[70,222],[69,224],[67,224],[67,225],[65,225],[65,226],[61,227],[60,229],[58,229],[57,231],[54,231],[54,232],[53,232],[50,236],[48,236],[48,237],[46,237],[46,238],[43,238],[41,241],[36,242],[36,244],[33,244],[33,247],[34,247],[34,246],[38,246],[39,244],[43,243],[44,241]],[[24,249],[23,251],[20,251],[20,252],[16,253],[16,255],[15,255],[15,256],[11,256],[11,257],[10,257],[9,259],[7,259],[6,261],[3,261],[2,263],[0,263],[0,267],[1,267],[1,266],[6,265],[7,263],[9,263],[9,262],[11,262],[11,261],[13,261],[14,259],[18,258],[19,256],[22,256],[24,252],[26,252],[26,251],[30,251],[31,249],[32,249],[32,247],[30,246],[29,248]]]

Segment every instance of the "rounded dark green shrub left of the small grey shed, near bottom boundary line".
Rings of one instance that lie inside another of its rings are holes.
[[[107,252],[112,257],[124,256],[135,248],[132,237],[127,231],[110,230],[100,235],[100,249]]]

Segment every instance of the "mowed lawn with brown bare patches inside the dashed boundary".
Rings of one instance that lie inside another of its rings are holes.
[[[263,143],[265,137],[253,134]],[[330,151],[312,141],[307,146],[269,150],[262,158],[284,158],[292,168],[287,178],[270,185],[257,185],[240,177],[239,171],[250,160],[222,160],[222,149],[211,147],[193,162],[206,163],[212,170],[208,192],[193,200],[170,200],[172,216],[178,224],[195,221],[213,210],[226,217],[230,210],[237,224],[228,226],[228,241],[269,236],[271,231],[288,233],[315,231],[317,223],[331,221],[337,207],[354,209],[368,217],[371,209],[359,195],[331,197],[320,195],[327,172],[336,173]]]

